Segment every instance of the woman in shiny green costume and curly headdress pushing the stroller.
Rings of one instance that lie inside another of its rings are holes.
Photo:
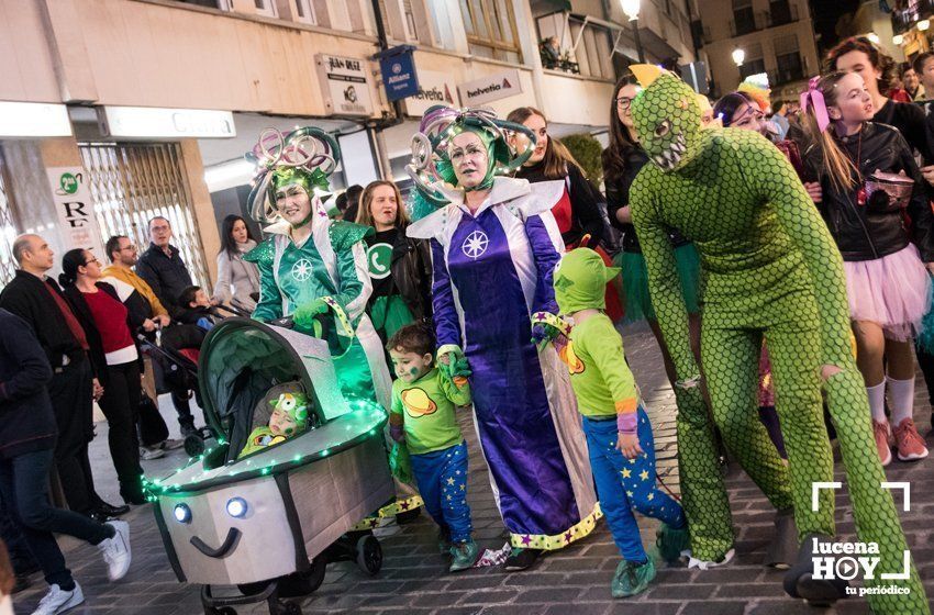
[[[382,345],[364,313],[371,286],[364,238],[373,228],[327,217],[315,193],[340,159],[337,143],[315,127],[282,136],[266,131],[252,156],[259,175],[251,213],[269,237],[246,255],[259,267],[253,317],[292,316],[297,331],[327,340],[337,380],[348,398],[389,407],[391,382]]]

